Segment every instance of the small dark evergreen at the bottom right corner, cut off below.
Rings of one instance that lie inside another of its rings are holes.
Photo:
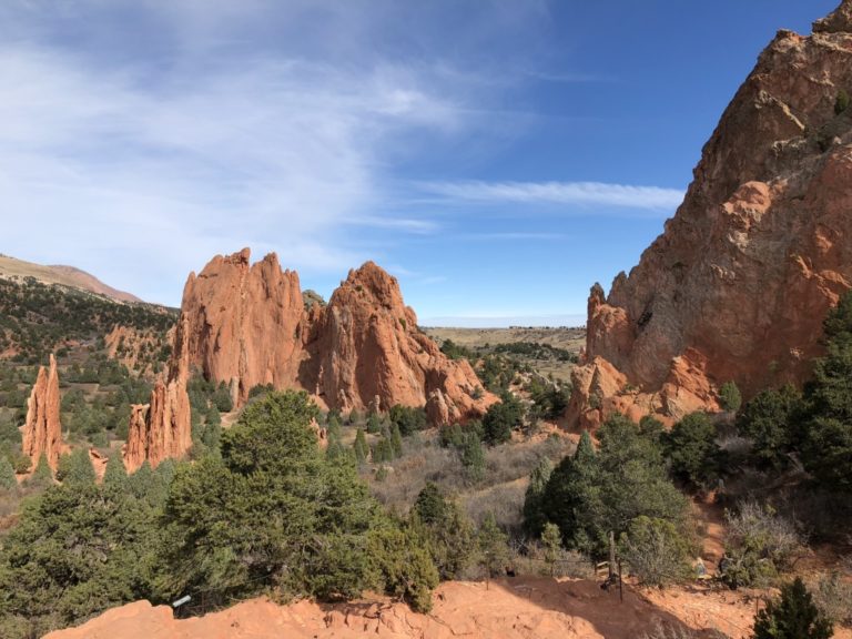
[[[819,609],[801,577],[781,587],[781,597],[770,601],[754,619],[754,639],[829,639],[830,621]]]

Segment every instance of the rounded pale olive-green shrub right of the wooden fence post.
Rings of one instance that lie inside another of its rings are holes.
[[[689,542],[671,521],[637,517],[621,535],[620,549],[632,574],[647,586],[662,588],[689,576]]]

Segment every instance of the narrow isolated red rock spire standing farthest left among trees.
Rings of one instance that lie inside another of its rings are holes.
[[[50,369],[41,366],[36,385],[27,402],[27,422],[23,425],[23,454],[32,460],[32,468],[45,455],[55,471],[62,454],[62,425],[59,422],[59,373],[51,354]]]

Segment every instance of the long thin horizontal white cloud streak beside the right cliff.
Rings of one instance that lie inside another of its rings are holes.
[[[676,209],[683,191],[604,182],[420,182],[418,187],[450,201],[524,204],[581,204],[625,209]]]

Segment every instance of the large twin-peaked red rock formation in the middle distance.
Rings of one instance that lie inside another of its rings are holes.
[[[481,415],[496,398],[466,362],[417,328],[395,277],[372,262],[349,272],[328,304],[306,304],[298,275],[275,254],[214,257],[184,288],[172,368],[230,385],[236,404],[256,385],[303,388],[329,408],[424,406],[436,423]]]

